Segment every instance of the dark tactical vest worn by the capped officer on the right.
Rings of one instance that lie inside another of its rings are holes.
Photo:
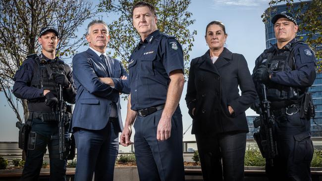
[[[295,70],[294,54],[297,49],[296,47],[300,44],[303,44],[303,42],[288,43],[283,49],[278,50],[274,47],[269,48],[262,59],[261,65],[267,66],[270,72]],[[292,88],[273,82],[268,83],[267,88],[267,98],[271,102],[298,102],[306,90],[305,88]]]

